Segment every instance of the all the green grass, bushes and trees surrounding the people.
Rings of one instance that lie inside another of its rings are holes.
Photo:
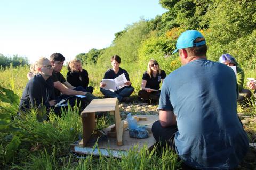
[[[161,0],[168,11],[151,20],[141,19],[115,34],[111,46],[91,49],[77,55],[89,72],[94,95],[101,97],[99,82],[110,67],[110,57],[121,56],[121,67],[129,72],[138,93],[143,71],[150,58],[155,58],[167,74],[180,67],[178,54],[170,53],[180,33],[197,29],[206,38],[207,57],[217,61],[223,53],[236,57],[246,77],[256,78],[256,1],[254,0]],[[18,59],[17,59],[18,58]],[[77,108],[69,108],[62,118],[50,116],[39,122],[34,110],[17,117],[19,98],[26,86],[27,60],[18,56],[12,59],[0,55],[0,169],[177,169],[177,155],[166,150],[163,154],[149,153],[146,149],[137,155],[130,152],[127,158],[114,159],[88,156],[79,159],[70,154],[69,146],[81,136],[81,118]],[[3,62],[2,62],[3,61]],[[8,62],[7,62],[8,61]],[[19,61],[17,66],[14,61]],[[23,63],[24,62],[24,63]],[[1,64],[2,63],[2,64]],[[9,63],[9,64],[8,64]],[[13,64],[10,64],[13,63]],[[25,66],[23,66],[25,65]],[[3,69],[5,68],[5,69]],[[67,69],[62,70],[66,75]],[[246,86],[246,81],[244,86]],[[254,99],[252,99],[254,100]],[[249,107],[238,106],[250,142],[256,137],[254,102]],[[136,114],[136,113],[134,113]],[[97,126],[105,128],[111,117],[99,120]],[[255,161],[255,160],[254,160]],[[254,164],[255,165],[255,164]]]

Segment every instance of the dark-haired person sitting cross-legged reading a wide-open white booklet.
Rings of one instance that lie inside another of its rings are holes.
[[[117,97],[119,101],[130,101],[129,97],[134,88],[131,86],[129,74],[126,70],[119,67],[121,58],[118,55],[111,57],[112,69],[105,72],[103,80],[100,82],[100,91],[106,97]],[[109,80],[111,79],[111,80]],[[108,82],[113,82],[110,86]]]

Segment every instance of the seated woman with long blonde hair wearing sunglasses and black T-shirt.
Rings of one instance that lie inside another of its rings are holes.
[[[141,89],[138,96],[146,100],[159,101],[160,97],[160,83],[166,77],[165,71],[160,69],[156,60],[151,59],[148,62],[148,69],[143,74]]]

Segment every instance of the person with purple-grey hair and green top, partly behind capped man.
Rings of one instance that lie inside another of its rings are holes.
[[[230,54],[223,54],[219,58],[219,62],[223,63],[229,67],[233,67],[232,69],[236,73],[236,79],[237,79],[237,85],[238,85],[238,92],[239,97],[237,99],[238,103],[241,103],[242,105],[246,105],[248,103],[248,99],[251,97],[251,91],[248,89],[244,89],[244,71],[239,67],[239,64],[237,63],[236,59],[231,56]]]

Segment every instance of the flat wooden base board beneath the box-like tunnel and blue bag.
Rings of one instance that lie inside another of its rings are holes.
[[[113,155],[114,157],[119,157],[119,154],[125,154],[129,149],[133,146],[138,145],[138,151],[147,143],[148,149],[154,146],[156,140],[154,139],[151,133],[152,124],[159,120],[159,116],[156,115],[136,115],[137,117],[147,117],[147,120],[140,120],[137,122],[138,125],[146,125],[149,131],[149,137],[145,139],[136,139],[129,137],[129,131],[127,128],[124,128],[123,132],[123,145],[117,146],[116,145],[116,138],[108,137],[106,140],[101,140],[98,142],[98,148],[102,155],[110,156]],[[108,131],[111,130],[111,127],[115,125],[111,125],[108,128],[104,129],[105,133],[107,134]],[[93,150],[94,143],[88,143],[84,148],[80,147],[79,145],[73,145],[71,150],[72,152],[80,153],[80,154],[91,154],[99,155],[98,148]]]

